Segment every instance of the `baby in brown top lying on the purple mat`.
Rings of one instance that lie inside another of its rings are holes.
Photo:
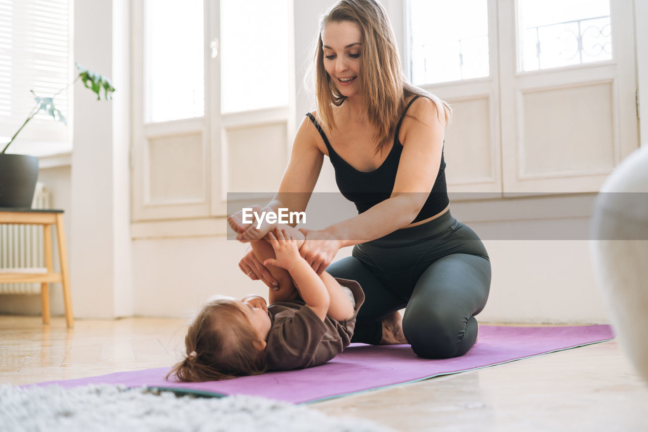
[[[364,293],[357,282],[327,272],[318,276],[299,255],[303,241],[301,232],[281,226],[251,242],[257,259],[279,276],[279,290],[268,295],[270,306],[256,295],[205,304],[187,331],[187,357],[167,378],[216,381],[306,368],[351,343]],[[288,279],[281,277],[285,271]]]

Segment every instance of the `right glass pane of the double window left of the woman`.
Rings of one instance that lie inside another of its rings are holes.
[[[220,1],[221,111],[288,105],[288,0]]]

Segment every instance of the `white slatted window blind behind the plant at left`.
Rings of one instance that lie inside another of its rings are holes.
[[[36,106],[30,90],[52,97],[71,81],[69,21],[69,0],[0,0],[0,143],[16,133]],[[68,92],[57,95],[54,104],[67,118]],[[68,141],[68,128],[41,111],[8,152]]]

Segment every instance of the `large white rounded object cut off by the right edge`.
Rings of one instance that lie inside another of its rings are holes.
[[[619,343],[648,381],[648,145],[614,170],[596,198],[590,251]]]

